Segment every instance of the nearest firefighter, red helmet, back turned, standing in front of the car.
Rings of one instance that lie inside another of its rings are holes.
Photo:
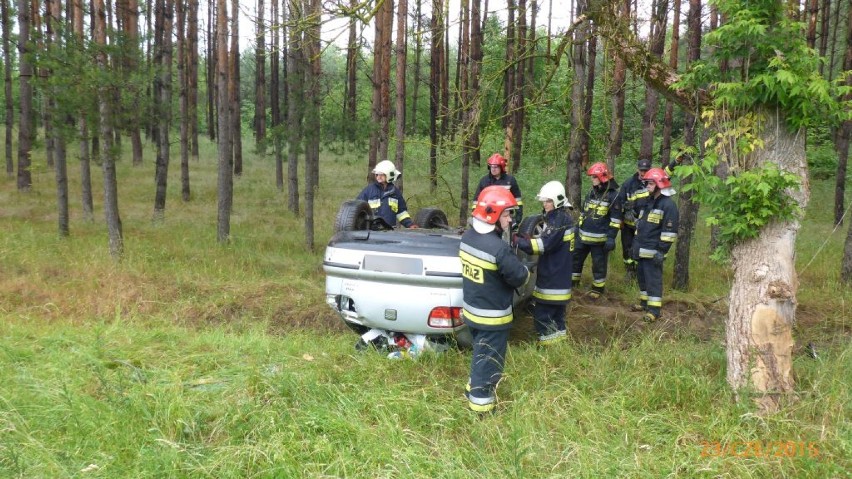
[[[501,186],[482,190],[473,209],[473,228],[459,245],[462,264],[462,316],[473,336],[473,355],[467,387],[468,407],[486,413],[497,402],[497,383],[503,374],[512,300],[530,273],[503,241],[512,226],[515,197]]]

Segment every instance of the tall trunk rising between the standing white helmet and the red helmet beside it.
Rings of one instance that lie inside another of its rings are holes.
[[[577,16],[586,13],[586,0],[577,0]],[[573,65],[574,80],[571,86],[571,139],[568,147],[568,162],[565,181],[568,184],[568,199],[571,204],[580,204],[580,190],[583,185],[582,140],[583,113],[585,110],[586,82],[586,37],[588,22],[584,22],[574,32]]]

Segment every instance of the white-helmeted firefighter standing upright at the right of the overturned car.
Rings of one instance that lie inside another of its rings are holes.
[[[546,183],[536,199],[544,208],[541,235],[538,238],[513,235],[513,242],[527,254],[540,255],[533,290],[533,318],[538,343],[548,346],[566,338],[565,308],[571,301],[571,277],[565,272],[571,271],[574,221],[566,211],[571,205],[562,183]]]

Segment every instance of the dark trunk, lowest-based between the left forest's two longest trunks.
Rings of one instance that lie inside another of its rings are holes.
[[[178,0],[181,1],[181,0]],[[166,186],[169,178],[171,160],[171,118],[172,118],[172,30],[174,23],[174,5],[172,0],[163,1],[163,33],[160,44],[160,101],[157,115],[157,192],[154,195],[154,222],[163,220],[166,213]]]

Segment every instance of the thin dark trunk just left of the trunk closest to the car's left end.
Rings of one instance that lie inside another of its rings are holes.
[[[290,91],[287,103],[288,159],[287,159],[287,209],[299,215],[299,145],[302,142],[302,108],[305,102],[302,88],[302,6],[299,0],[289,0],[290,29],[287,51],[287,88]]]

